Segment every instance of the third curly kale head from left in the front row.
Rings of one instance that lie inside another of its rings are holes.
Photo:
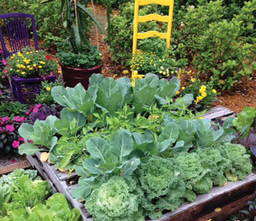
[[[207,176],[210,170],[201,166],[197,153],[179,153],[175,155],[175,163],[181,168],[181,176],[186,182],[187,189],[201,194],[210,192],[212,181]]]

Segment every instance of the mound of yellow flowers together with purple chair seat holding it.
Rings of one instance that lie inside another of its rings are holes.
[[[14,99],[23,103],[23,95],[40,93],[41,82],[54,82],[61,71],[55,59],[45,51],[24,48],[7,58],[2,78],[9,78]],[[33,92],[23,93],[22,88],[35,88]]]

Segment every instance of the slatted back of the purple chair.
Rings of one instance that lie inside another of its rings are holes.
[[[28,19],[31,19],[31,22],[32,22],[35,49],[38,50],[34,15],[24,14],[24,13],[0,14],[0,20],[3,20],[3,23],[5,25],[5,30],[7,33],[9,44],[11,46],[12,53],[20,51],[21,49],[27,46],[30,47],[30,38],[29,38],[30,32],[28,28]],[[4,56],[5,58],[7,58],[10,54],[6,49],[1,28],[0,28],[0,42],[2,44]]]

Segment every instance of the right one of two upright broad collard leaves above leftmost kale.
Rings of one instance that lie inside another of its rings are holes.
[[[131,133],[125,129],[117,131],[110,142],[110,151],[117,156],[121,162],[124,156],[127,156],[133,150],[133,140]]]

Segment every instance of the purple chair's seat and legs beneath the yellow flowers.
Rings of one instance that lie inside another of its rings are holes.
[[[55,82],[56,76],[49,77],[33,77],[33,78],[25,78],[25,77],[12,77],[12,82],[10,82],[12,94],[15,100],[23,103],[23,95],[28,94],[39,94],[41,91],[39,87],[41,86],[42,81],[47,80],[50,82]],[[34,88],[34,91],[31,92],[22,92],[23,88]]]

